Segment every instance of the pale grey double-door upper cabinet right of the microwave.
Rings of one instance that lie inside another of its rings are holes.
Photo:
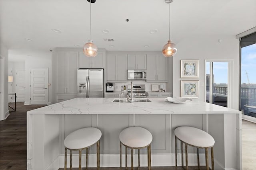
[[[168,82],[168,62],[163,55],[147,55],[147,82]]]

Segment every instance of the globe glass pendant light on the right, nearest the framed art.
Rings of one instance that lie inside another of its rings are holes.
[[[176,52],[176,45],[174,43],[171,43],[170,41],[170,27],[171,27],[171,2],[172,0],[165,0],[166,3],[169,3],[169,40],[167,41],[168,43],[164,45],[162,49],[162,54],[164,57],[173,57]]]

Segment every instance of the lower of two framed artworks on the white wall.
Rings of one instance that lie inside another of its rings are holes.
[[[186,98],[199,97],[199,80],[181,80],[180,96]]]

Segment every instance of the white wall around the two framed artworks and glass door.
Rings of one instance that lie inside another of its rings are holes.
[[[222,39],[219,43],[218,39]],[[200,83],[205,85],[205,60],[206,59],[231,59],[234,61],[233,65],[233,81],[230,94],[232,94],[231,108],[239,109],[239,39],[235,36],[205,36],[188,37],[177,44],[178,52],[173,57],[173,96],[180,96],[180,60],[199,59],[200,72],[199,79],[186,80],[200,80]],[[200,86],[199,100],[205,100],[205,88]]]

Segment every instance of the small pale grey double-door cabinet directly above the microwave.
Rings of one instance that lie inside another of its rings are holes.
[[[147,65],[146,55],[128,55],[128,69],[129,70],[146,70]]]

